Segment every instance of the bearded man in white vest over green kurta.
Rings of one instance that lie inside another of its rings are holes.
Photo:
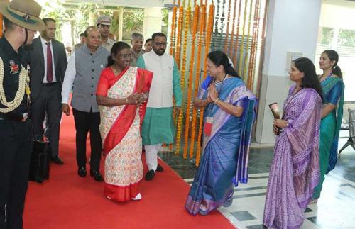
[[[173,97],[175,112],[180,111],[182,91],[180,74],[174,57],[165,53],[166,35],[154,33],[153,51],[138,58],[137,67],[153,72],[153,81],[149,91],[146,116],[142,125],[142,140],[146,149],[148,172],[146,180],[152,180],[155,171],[163,172],[158,164],[158,151],[163,143],[173,143],[175,126],[173,121]]]

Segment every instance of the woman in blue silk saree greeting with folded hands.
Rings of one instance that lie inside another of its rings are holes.
[[[195,106],[204,107],[202,162],[192,182],[185,208],[207,215],[230,206],[234,185],[246,183],[256,96],[246,89],[224,52],[210,52],[207,71]]]

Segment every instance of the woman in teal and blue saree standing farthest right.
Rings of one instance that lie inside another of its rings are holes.
[[[338,66],[339,55],[334,50],[325,50],[320,56],[320,69],[323,74],[320,82],[323,89],[324,105],[320,122],[320,183],[312,196],[320,198],[324,175],[334,169],[337,163],[338,140],[342,124],[344,104],[344,84],[342,71]]]

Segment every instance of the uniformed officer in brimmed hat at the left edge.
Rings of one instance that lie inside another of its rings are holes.
[[[22,228],[23,206],[33,145],[28,119],[30,95],[28,57],[31,44],[45,24],[33,0],[0,1],[5,33],[0,39],[0,228]]]

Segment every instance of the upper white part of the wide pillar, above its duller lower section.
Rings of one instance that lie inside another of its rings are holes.
[[[266,52],[263,73],[285,76],[287,51],[302,52],[313,60],[320,21],[320,0],[271,0],[274,11],[269,9]],[[271,6],[272,7],[272,6]],[[273,13],[273,15],[270,15]]]

